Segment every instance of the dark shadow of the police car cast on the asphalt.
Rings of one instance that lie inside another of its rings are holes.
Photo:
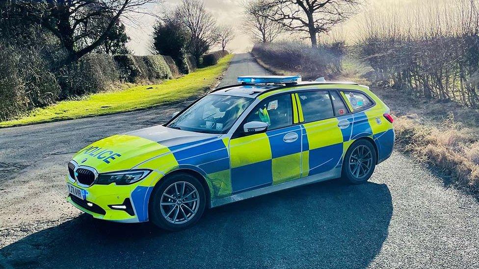
[[[180,232],[83,214],[5,246],[0,259],[53,268],[364,268],[387,237],[392,211],[386,185],[333,180],[209,210]]]

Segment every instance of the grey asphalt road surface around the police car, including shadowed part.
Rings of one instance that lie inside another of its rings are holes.
[[[224,81],[265,72],[238,54]],[[165,122],[187,102],[0,130],[0,268],[479,268],[479,205],[394,152],[338,180],[212,209],[181,232],[93,220],[64,200],[81,147]]]

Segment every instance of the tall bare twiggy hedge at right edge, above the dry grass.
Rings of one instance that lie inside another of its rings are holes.
[[[380,85],[479,108],[479,6],[477,1],[441,4],[444,10],[417,6],[404,14],[366,16],[357,44],[361,58]]]

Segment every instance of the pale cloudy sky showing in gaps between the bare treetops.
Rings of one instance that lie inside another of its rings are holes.
[[[420,0],[369,0],[365,10],[371,9],[387,9],[392,5],[407,6],[410,3],[418,2]],[[153,14],[160,14],[168,9],[173,9],[180,0],[166,0],[163,4],[150,4],[146,6],[149,12]],[[218,19],[219,24],[226,24],[233,27],[236,31],[236,38],[228,49],[233,52],[245,52],[251,49],[252,43],[247,36],[241,33],[242,8],[240,0],[204,0],[205,6]],[[361,20],[361,15],[358,14],[354,19],[350,20],[342,26],[345,34],[350,34],[355,30],[357,20]],[[135,22],[126,22],[127,34],[131,41],[128,44],[131,49],[138,55],[149,54],[151,44],[151,33],[153,31],[153,24],[155,18],[149,15],[136,15]]]

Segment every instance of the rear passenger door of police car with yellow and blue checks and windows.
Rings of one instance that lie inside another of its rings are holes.
[[[341,168],[344,130],[351,127],[348,110],[338,92],[302,91],[295,94],[302,131],[301,177]],[[343,119],[338,117],[343,116]]]

